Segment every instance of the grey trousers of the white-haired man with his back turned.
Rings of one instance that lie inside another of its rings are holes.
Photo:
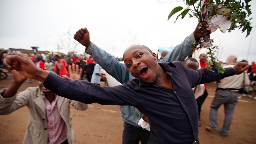
[[[238,93],[226,90],[218,90],[212,100],[211,110],[209,114],[210,126],[214,129],[218,128],[217,118],[218,109],[224,104],[225,118],[222,129],[220,130],[223,136],[228,136],[229,127],[235,110],[235,105],[238,100]]]

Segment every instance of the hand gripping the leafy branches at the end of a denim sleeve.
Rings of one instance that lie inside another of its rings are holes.
[[[194,36],[197,42],[200,40],[202,36],[208,36],[211,34],[211,32],[206,29],[209,27],[206,21],[201,22],[201,25],[202,27],[200,29],[198,28],[198,26],[196,26],[196,29],[194,31]]]

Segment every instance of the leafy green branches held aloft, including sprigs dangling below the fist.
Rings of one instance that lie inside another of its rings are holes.
[[[198,19],[199,22],[199,28],[201,28],[202,25],[200,25],[203,20],[201,16],[201,5],[203,0],[183,0],[183,3],[187,6],[177,17],[174,23],[178,20],[178,18],[181,16],[181,20],[188,14],[189,17],[195,17]],[[234,30],[235,28],[241,29],[242,32],[246,31],[246,37],[250,35],[250,32],[252,31],[251,26],[251,20],[252,18],[249,18],[249,16],[252,14],[251,12],[251,5],[249,4],[251,0],[244,0],[242,2],[241,0],[209,0],[208,3],[206,3],[206,7],[210,8],[210,11],[208,11],[208,18],[211,19],[214,15],[219,14],[226,16],[228,20],[231,20],[230,28],[228,29],[228,32],[231,30]],[[193,6],[193,7],[192,7]],[[192,8],[191,8],[192,7]],[[224,9],[226,8],[226,9]],[[168,20],[177,12],[181,11],[183,7],[178,6],[174,8],[171,13],[168,16]],[[228,9],[228,10],[227,10]],[[221,11],[222,10],[222,11]],[[213,42],[213,40],[211,40]],[[199,45],[197,47],[202,47],[202,43],[204,42],[203,38],[201,38]],[[222,68],[219,60],[214,55],[214,53],[217,51],[218,46],[214,46],[212,48],[208,48],[206,56],[208,59],[206,68],[208,70],[212,71],[212,66],[218,67],[219,73],[224,73],[225,69]]]

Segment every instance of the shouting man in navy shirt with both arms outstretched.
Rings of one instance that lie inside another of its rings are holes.
[[[149,143],[194,144],[198,136],[198,110],[192,87],[224,77],[241,74],[250,65],[238,62],[225,68],[224,74],[206,69],[187,68],[180,61],[157,63],[157,56],[148,47],[132,45],[123,55],[133,76],[128,83],[100,87],[87,81],[74,81],[37,68],[26,55],[11,53],[4,61],[8,69],[44,83],[59,96],[87,104],[131,105],[151,121]],[[74,73],[78,69],[73,68]],[[72,74],[70,74],[71,76]]]

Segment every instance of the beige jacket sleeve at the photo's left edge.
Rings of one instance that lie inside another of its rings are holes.
[[[5,99],[1,94],[6,89],[7,88],[4,88],[0,91],[0,115],[8,115],[13,111],[28,105],[30,97],[28,89]]]

